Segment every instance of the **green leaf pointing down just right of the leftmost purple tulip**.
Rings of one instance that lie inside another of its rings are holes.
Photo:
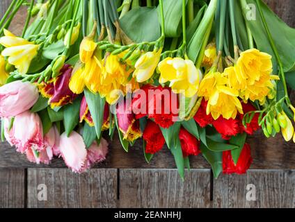
[[[78,97],[72,104],[66,105],[63,110],[63,125],[65,126],[67,137],[70,136],[72,130],[74,130],[79,123],[80,105],[81,97]]]

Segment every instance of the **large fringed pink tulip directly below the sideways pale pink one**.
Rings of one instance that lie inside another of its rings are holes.
[[[6,139],[17,147],[17,151],[25,153],[28,148],[36,151],[44,149],[42,123],[38,114],[29,111],[15,117],[13,127],[9,130],[10,121],[5,120]]]

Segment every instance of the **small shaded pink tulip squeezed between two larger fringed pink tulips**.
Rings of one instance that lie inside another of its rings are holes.
[[[53,156],[61,155],[61,151],[58,147],[60,137],[61,135],[59,135],[56,126],[51,127],[49,132],[44,137],[44,145],[47,149],[47,154],[50,160],[52,160]]]

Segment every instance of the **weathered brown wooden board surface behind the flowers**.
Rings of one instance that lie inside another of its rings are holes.
[[[10,2],[0,1],[0,17]],[[295,27],[294,0],[266,2]],[[15,33],[21,32],[25,13],[22,8],[14,19]],[[61,160],[49,166],[31,164],[3,143],[0,207],[295,207],[295,145],[281,136],[266,140],[262,133],[249,137],[248,143],[254,162],[246,175],[215,180],[209,164],[198,156],[191,158],[185,182],[167,148],[146,164],[141,142],[125,153],[118,137],[106,162],[80,175],[65,169]],[[249,184],[256,187],[256,201],[246,200]],[[38,200],[42,185],[47,186],[46,201]]]

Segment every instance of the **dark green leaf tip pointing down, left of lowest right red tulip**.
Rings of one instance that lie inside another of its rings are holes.
[[[222,172],[222,152],[210,151],[203,143],[201,143],[200,149],[202,155],[212,167],[214,178],[218,178],[219,174]]]

